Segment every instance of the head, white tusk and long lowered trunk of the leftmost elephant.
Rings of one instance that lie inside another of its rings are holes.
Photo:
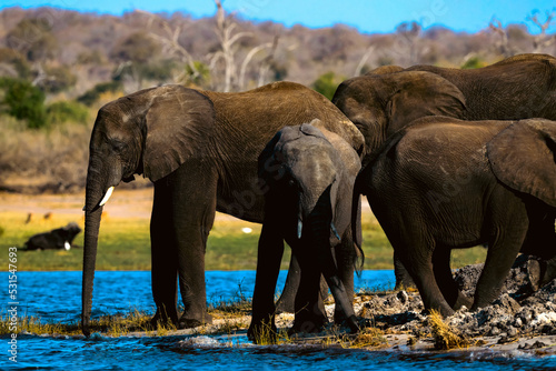
[[[82,327],[89,333],[100,215],[120,181],[143,174],[156,182],[202,151],[214,129],[212,103],[181,86],[138,91],[103,106],[92,129],[86,188]]]

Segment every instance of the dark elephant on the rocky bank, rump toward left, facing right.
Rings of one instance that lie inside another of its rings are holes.
[[[520,250],[556,261],[555,151],[556,122],[543,119],[421,118],[387,140],[357,187],[426,309],[449,315],[492,303]],[[477,244],[488,252],[470,300],[449,258]],[[554,275],[539,272],[540,284]]]

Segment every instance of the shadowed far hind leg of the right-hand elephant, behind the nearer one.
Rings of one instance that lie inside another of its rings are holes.
[[[459,291],[459,288],[454,280],[450,269],[451,249],[448,247],[437,247],[433,253],[433,269],[435,272],[436,282],[443,292],[444,299],[454,309],[458,310],[463,305],[468,309],[473,305],[473,300],[467,298]]]

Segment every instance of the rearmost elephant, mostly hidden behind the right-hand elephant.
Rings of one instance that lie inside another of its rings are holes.
[[[332,102],[365,136],[363,166],[384,141],[417,118],[556,120],[556,59],[519,54],[480,69],[380,67],[344,81]],[[397,287],[410,287],[395,257]]]

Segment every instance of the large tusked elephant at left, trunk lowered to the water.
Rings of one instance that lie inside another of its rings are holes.
[[[292,82],[239,93],[170,84],[102,107],[91,134],[86,189],[82,328],[89,333],[92,280],[102,207],[113,187],[143,174],[155,184],[150,223],[153,323],[210,322],[205,249],[215,212],[262,222],[257,158],[285,126],[319,119],[319,128],[356,151],[364,139],[325,97]],[[177,280],[185,312],[177,313]]]

